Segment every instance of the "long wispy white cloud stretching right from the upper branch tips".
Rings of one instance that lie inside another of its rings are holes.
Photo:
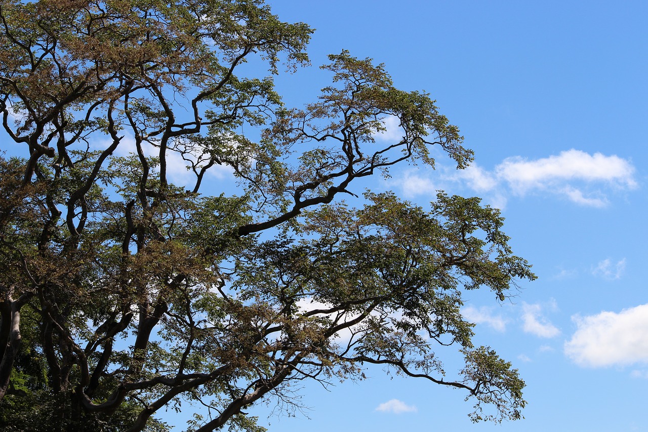
[[[634,165],[619,156],[571,149],[535,160],[512,156],[492,171],[473,163],[466,169],[439,176],[439,180],[459,182],[482,195],[487,194],[492,205],[499,208],[505,206],[509,195],[524,197],[534,192],[559,195],[580,206],[603,208],[609,204],[610,189],[638,187],[634,174]],[[410,197],[443,189],[434,187],[437,185],[429,177],[412,172],[395,182]]]

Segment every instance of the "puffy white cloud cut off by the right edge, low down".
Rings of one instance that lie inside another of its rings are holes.
[[[564,352],[581,366],[602,367],[648,363],[648,304],[623,311],[603,311],[572,320],[577,330]]]

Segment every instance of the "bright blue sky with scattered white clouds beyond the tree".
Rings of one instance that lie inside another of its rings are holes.
[[[648,3],[268,3],[316,29],[314,66],[276,78],[284,102],[314,101],[330,80],[316,66],[342,49],[384,63],[402,90],[431,93],[473,165],[440,157],[434,171],[405,165],[367,186],[422,206],[439,189],[483,198],[538,280],[503,303],[470,292],[463,309],[476,344],[520,370],[524,420],[472,424],[460,390],[380,368],[366,381],[305,384],[308,409],[294,415],[272,400],[249,413],[273,432],[648,431]],[[163,418],[185,426],[183,414]]]

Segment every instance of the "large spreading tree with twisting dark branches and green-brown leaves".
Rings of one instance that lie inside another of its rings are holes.
[[[2,0],[0,18],[5,150],[25,155],[0,163],[5,428],[163,430],[157,411],[189,401],[191,430],[262,430],[244,407],[371,365],[466,390],[473,420],[520,418],[524,382],[460,310],[465,290],[502,301],[535,278],[498,210],[339,199],[434,165],[433,146],[472,161],[430,95],[343,51],[317,102],[285,108],[235,71],[308,64],[312,30],[260,0]],[[388,117],[402,138],[381,146]],[[237,187],[209,184],[216,165]]]

